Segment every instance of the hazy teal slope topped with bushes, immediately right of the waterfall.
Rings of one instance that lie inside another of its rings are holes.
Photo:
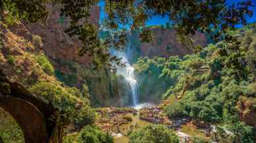
[[[133,66],[139,78],[140,97],[148,99],[148,95],[150,95],[159,100],[168,87],[176,83],[177,75],[183,73],[183,71],[177,70],[180,67],[179,60],[178,57],[139,58]]]

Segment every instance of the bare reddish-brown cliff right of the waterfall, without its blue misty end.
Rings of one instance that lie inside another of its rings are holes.
[[[150,43],[143,43],[141,45],[141,56],[184,56],[191,54],[192,49],[181,47],[177,41],[176,31],[170,28],[151,28],[153,31],[153,41]],[[200,45],[205,47],[207,45],[207,37],[203,33],[196,32],[191,36],[195,46]]]

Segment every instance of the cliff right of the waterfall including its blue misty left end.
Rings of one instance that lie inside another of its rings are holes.
[[[138,58],[144,56],[148,58],[154,56],[168,58],[169,56],[184,56],[193,52],[193,49],[182,47],[181,43],[177,41],[176,30],[162,28],[161,26],[154,26],[150,30],[152,30],[153,39],[149,43],[141,43],[137,31],[131,31],[128,34],[127,52],[129,52],[129,62],[135,63]],[[194,46],[205,47],[208,43],[207,36],[200,32],[191,35],[191,38]]]

